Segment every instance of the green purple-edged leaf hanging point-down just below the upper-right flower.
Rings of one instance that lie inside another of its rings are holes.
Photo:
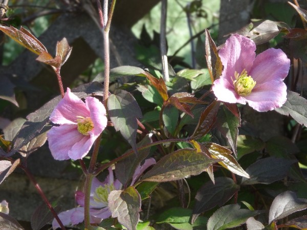
[[[239,112],[238,112],[239,113]],[[233,153],[237,156],[237,137],[240,119],[234,116],[225,106],[222,106],[217,113],[216,127],[228,140]]]

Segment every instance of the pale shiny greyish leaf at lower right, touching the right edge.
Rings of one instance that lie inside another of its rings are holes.
[[[296,193],[292,191],[283,192],[272,202],[269,223],[304,209],[307,209],[307,199],[297,198]]]

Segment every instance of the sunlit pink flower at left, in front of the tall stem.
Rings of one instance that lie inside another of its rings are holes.
[[[47,134],[49,149],[58,160],[84,157],[107,124],[105,108],[97,98],[87,97],[84,103],[70,88],[50,120],[59,125]]]

